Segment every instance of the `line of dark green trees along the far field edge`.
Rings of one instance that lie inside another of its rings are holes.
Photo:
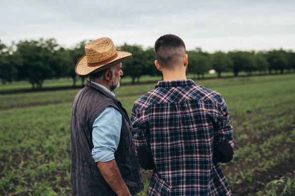
[[[59,46],[55,39],[26,40],[6,46],[0,41],[0,80],[2,84],[12,81],[28,80],[32,88],[42,88],[45,79],[70,77],[73,86],[80,77],[84,85],[87,76],[75,73],[75,65],[85,54],[84,47],[90,40],[84,40],[73,48]],[[155,52],[153,48],[144,49],[140,45],[117,47],[133,54],[124,61],[124,76],[132,78],[132,84],[139,82],[142,75],[161,75],[154,66]],[[224,72],[240,72],[252,75],[284,73],[295,70],[295,51],[293,50],[264,50],[264,51],[216,51],[208,53],[201,48],[187,51],[188,73],[198,78],[213,69],[217,76]]]

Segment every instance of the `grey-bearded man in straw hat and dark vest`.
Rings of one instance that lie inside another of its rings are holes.
[[[71,186],[77,196],[134,196],[143,189],[129,117],[111,91],[119,87],[121,62],[132,54],[110,38],[85,46],[76,73],[89,74],[72,105]]]

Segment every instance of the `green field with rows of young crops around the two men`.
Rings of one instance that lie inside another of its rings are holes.
[[[222,168],[233,195],[294,196],[295,74],[196,82],[228,104],[235,158]],[[115,93],[130,115],[134,101],[155,84],[122,86]],[[78,91],[0,95],[0,195],[71,195],[69,122]],[[146,188],[139,195],[145,196],[150,171],[142,174]]]

